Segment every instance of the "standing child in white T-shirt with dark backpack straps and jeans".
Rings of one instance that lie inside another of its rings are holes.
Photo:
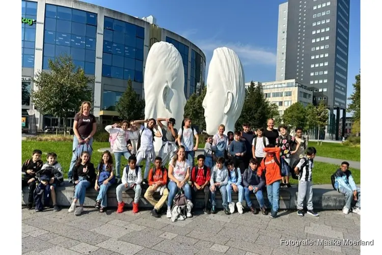
[[[198,132],[191,126],[192,121],[190,118],[184,118],[184,125],[178,132],[178,145],[183,145],[185,148],[185,159],[189,167],[192,169],[194,166],[195,151],[198,150],[199,135]],[[196,145],[194,146],[194,136],[196,138]]]

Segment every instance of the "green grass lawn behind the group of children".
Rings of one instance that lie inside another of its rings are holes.
[[[329,143],[326,143],[329,144]],[[22,141],[22,163],[26,160],[31,158],[31,153],[34,149],[41,149],[43,152],[42,160],[46,161],[46,153],[54,151],[58,155],[58,162],[63,167],[65,177],[67,177],[67,172],[69,170],[70,160],[72,157],[72,142],[45,142],[45,141]],[[101,152],[98,152],[99,148],[107,148],[110,146],[110,143],[108,142],[95,142],[93,144],[93,155],[92,155],[92,162],[96,166],[101,159]],[[322,143],[322,146],[324,147],[324,143]],[[317,147],[318,152],[320,151],[320,147]],[[346,146],[343,146],[346,147]],[[319,152],[319,154],[320,152]],[[123,166],[127,164],[127,160],[122,157],[121,162],[121,168],[123,169]],[[144,165],[145,163],[142,162],[141,165]],[[332,165],[328,163],[321,163],[321,162],[315,162],[314,163],[314,173],[313,173],[313,183],[314,184],[330,184],[331,179],[330,176],[334,173],[334,171],[338,168],[337,165]],[[351,169],[350,169],[351,170]],[[360,170],[354,169],[352,170],[352,175],[354,177],[354,181],[357,184],[361,183],[361,174]],[[296,180],[291,179],[291,184],[297,183]]]

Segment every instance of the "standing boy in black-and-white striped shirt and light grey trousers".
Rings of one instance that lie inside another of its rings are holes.
[[[312,170],[313,159],[316,156],[316,148],[307,148],[307,156],[302,158],[294,172],[298,175],[298,195],[297,195],[297,215],[304,216],[304,199],[307,201],[307,213],[317,217],[318,214],[313,212],[313,188],[312,188]]]

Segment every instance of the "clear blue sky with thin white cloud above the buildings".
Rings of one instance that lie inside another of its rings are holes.
[[[137,17],[153,15],[157,24],[195,43],[206,54],[207,67],[216,47],[232,48],[244,66],[245,81],[276,78],[279,4],[250,0],[86,0]],[[350,5],[347,97],[360,70],[360,0]],[[207,75],[207,74],[206,74]]]

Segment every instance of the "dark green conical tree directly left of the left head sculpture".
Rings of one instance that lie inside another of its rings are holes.
[[[132,88],[132,82],[127,81],[127,88],[116,105],[120,118],[138,120],[145,117],[145,100]]]

